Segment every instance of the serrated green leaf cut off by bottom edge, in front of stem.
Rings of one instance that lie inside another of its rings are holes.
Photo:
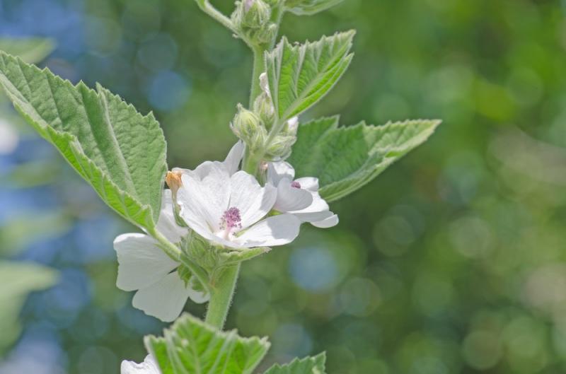
[[[149,336],[145,343],[163,374],[251,374],[270,346],[266,339],[219,332],[187,314],[164,337]]]

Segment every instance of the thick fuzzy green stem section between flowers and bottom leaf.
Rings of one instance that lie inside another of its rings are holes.
[[[210,286],[210,301],[208,303],[207,317],[205,322],[218,329],[224,327],[226,315],[232,303],[232,297],[236,290],[236,281],[240,272],[240,264],[226,267],[214,284]]]

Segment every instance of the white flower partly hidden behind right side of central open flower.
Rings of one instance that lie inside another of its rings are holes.
[[[338,216],[330,211],[328,203],[318,194],[318,178],[295,180],[294,177],[295,170],[289,163],[279,161],[268,165],[267,182],[277,186],[274,209],[293,214],[318,228],[336,226]]]

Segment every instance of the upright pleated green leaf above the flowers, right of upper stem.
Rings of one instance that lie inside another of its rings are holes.
[[[333,88],[352,61],[353,30],[318,42],[291,45],[283,38],[265,54],[273,105],[279,121],[301,114]]]

